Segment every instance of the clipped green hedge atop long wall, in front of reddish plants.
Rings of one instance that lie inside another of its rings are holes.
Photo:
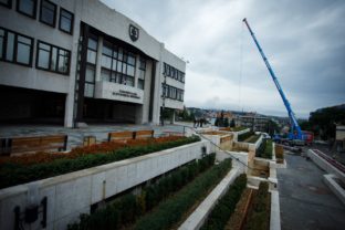
[[[109,164],[122,159],[138,157],[199,140],[200,137],[194,136],[178,139],[175,142],[151,144],[147,146],[125,147],[111,153],[82,155],[77,158],[63,158],[56,159],[51,163],[42,163],[31,166],[3,164],[0,166],[0,189],[104,164]]]

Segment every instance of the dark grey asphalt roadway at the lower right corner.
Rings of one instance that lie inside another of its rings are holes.
[[[325,174],[301,156],[286,155],[278,169],[283,230],[345,229],[345,205],[323,182]]]

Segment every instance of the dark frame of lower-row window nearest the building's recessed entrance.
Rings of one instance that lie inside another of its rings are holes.
[[[45,44],[45,45],[49,45],[50,46],[50,51],[49,51],[49,62],[48,62],[48,69],[45,67],[41,67],[39,66],[39,54],[40,54],[40,43],[42,44]],[[55,70],[51,70],[51,61],[52,61],[52,50],[53,48],[56,49],[56,64],[55,64]],[[66,51],[69,53],[69,66],[67,66],[67,71],[64,73],[64,72],[60,72],[59,71],[59,51],[60,50],[63,50],[63,51]],[[35,67],[38,70],[42,70],[42,71],[48,71],[48,72],[51,72],[51,73],[58,73],[58,74],[62,74],[62,75],[70,75],[70,71],[71,71],[71,60],[72,60],[72,52],[64,49],[64,48],[60,48],[60,46],[56,46],[54,44],[50,44],[48,42],[44,42],[42,40],[38,40],[36,42],[36,55],[35,55]]]

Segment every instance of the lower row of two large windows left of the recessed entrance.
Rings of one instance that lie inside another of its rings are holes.
[[[0,60],[32,66],[34,40],[30,36],[0,28]],[[36,69],[69,74],[71,52],[38,41]]]

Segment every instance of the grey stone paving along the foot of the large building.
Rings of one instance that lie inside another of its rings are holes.
[[[2,125],[0,126],[1,137],[18,137],[18,136],[44,136],[64,134],[69,135],[67,148],[83,145],[83,139],[86,136],[95,136],[97,143],[106,142],[109,132],[121,130],[143,130],[154,129],[155,136],[164,135],[165,133],[184,133],[184,126],[191,127],[191,123],[177,123],[175,125],[88,125],[83,128],[65,128],[62,126],[52,125]]]

